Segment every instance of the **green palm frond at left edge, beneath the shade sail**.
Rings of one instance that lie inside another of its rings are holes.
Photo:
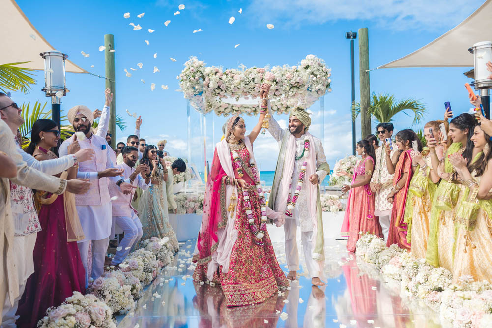
[[[34,74],[31,73],[33,69],[16,66],[26,63],[29,62],[0,65],[0,91],[21,91],[24,94],[29,92],[30,85],[36,83]]]

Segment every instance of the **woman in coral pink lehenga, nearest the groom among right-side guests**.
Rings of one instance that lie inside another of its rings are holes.
[[[350,252],[355,252],[360,232],[383,236],[379,218],[374,216],[374,194],[369,188],[376,157],[374,148],[367,140],[361,140],[355,150],[362,159],[355,167],[352,184],[341,188],[342,193],[350,191],[340,232],[342,236],[348,236],[347,250]]]

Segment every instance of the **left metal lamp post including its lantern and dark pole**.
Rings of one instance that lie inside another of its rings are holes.
[[[44,59],[44,88],[41,91],[46,93],[46,97],[51,97],[51,119],[60,125],[60,99],[68,92],[65,85],[65,59],[68,55],[60,51],[47,51],[39,55]]]

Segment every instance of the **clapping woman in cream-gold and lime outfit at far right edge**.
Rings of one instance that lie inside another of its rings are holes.
[[[480,126],[471,140],[475,149],[483,151],[476,162],[466,165],[457,154],[449,159],[466,186],[456,212],[453,282],[464,275],[492,282],[492,141]]]

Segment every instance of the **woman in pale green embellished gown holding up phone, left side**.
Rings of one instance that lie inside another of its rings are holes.
[[[142,240],[167,236],[169,237],[169,243],[173,246],[173,250],[177,252],[179,250],[178,239],[176,238],[176,232],[169,224],[167,209],[167,167],[162,159],[157,158],[157,148],[154,145],[148,145],[145,148],[140,163],[151,167],[151,173],[142,176],[151,178],[152,181],[152,185],[143,192],[138,202],[138,213],[144,232]]]

